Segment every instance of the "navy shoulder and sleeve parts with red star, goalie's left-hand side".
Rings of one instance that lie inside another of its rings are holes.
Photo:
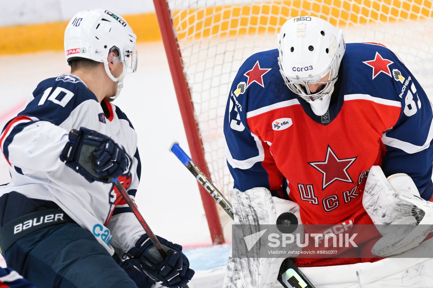
[[[276,49],[253,54],[242,64],[233,80],[224,117],[224,136],[234,160],[243,161],[259,155],[247,125],[247,112],[288,100],[288,97],[296,97],[290,94],[284,84],[277,58]],[[257,77],[255,74],[253,77],[249,74],[251,70],[259,71],[261,75]],[[234,188],[240,191],[253,187],[270,188],[268,174],[262,163],[254,163],[248,170],[234,168],[229,161],[227,165],[235,179]]]

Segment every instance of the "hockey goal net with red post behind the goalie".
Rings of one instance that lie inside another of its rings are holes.
[[[227,197],[223,119],[231,82],[255,52],[278,48],[277,33],[295,16],[318,16],[344,30],[346,42],[381,43],[433,95],[431,0],[154,0],[191,156]],[[200,185],[199,185],[200,186]],[[213,243],[220,216],[200,187]],[[227,218],[222,218],[228,222]]]

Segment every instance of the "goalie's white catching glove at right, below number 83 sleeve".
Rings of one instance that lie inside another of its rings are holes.
[[[385,177],[372,166],[365,183],[362,205],[382,238],[372,247],[377,256],[397,255],[420,244],[433,227],[433,202],[419,196],[407,174]]]

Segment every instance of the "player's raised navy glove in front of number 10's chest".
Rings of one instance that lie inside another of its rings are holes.
[[[113,139],[84,127],[69,132],[60,160],[90,183],[110,183],[128,173],[131,165],[131,157]]]

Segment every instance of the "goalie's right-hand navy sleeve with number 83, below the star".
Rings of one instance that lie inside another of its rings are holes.
[[[385,155],[382,170],[386,176],[406,173],[420,195],[429,200],[433,194],[433,113],[432,105],[420,83],[399,60],[395,78],[395,99],[401,101],[401,115],[394,127],[383,134]]]

